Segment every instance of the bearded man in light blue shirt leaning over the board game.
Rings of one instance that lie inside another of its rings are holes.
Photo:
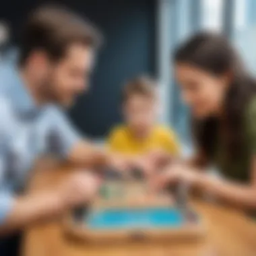
[[[18,197],[15,191],[40,154],[51,149],[90,168],[125,167],[121,158],[83,140],[61,112],[88,88],[97,45],[98,32],[90,24],[65,9],[43,7],[26,22],[18,66],[1,68],[2,236],[84,203],[98,188],[94,175],[81,172],[54,191]]]

